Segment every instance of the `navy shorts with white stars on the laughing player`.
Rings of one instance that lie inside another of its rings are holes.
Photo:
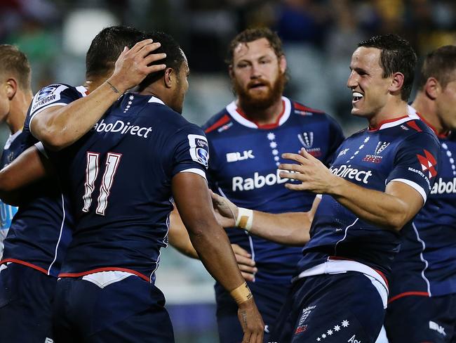
[[[293,284],[270,341],[373,343],[384,312],[379,291],[362,273],[309,276]]]

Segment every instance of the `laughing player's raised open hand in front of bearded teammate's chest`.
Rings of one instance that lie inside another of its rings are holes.
[[[279,165],[282,178],[301,181],[299,184],[286,183],[286,188],[291,190],[309,190],[313,193],[328,193],[334,185],[337,176],[323,164],[320,160],[301,149],[299,155],[286,153],[282,157],[286,160],[293,160],[297,164],[283,163]]]

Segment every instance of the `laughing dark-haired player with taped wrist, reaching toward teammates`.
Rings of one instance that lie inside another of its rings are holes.
[[[287,188],[321,194],[309,212],[267,214],[213,194],[223,226],[307,243],[271,341],[375,342],[401,231],[413,230],[437,173],[438,139],[408,113],[416,60],[393,34],[358,44],[347,86],[351,114],[368,119],[368,128],[340,145],[330,169],[304,149],[283,154],[297,164],[279,166],[287,170],[281,177],[300,181]]]

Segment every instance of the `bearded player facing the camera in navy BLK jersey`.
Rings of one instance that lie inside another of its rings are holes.
[[[271,213],[309,210],[315,195],[283,186],[288,180],[279,176],[280,155],[304,147],[328,165],[344,139],[342,130],[324,112],[283,96],[286,56],[271,30],[239,33],[229,45],[227,64],[236,99],[203,125],[209,141],[210,188],[241,207]],[[239,252],[238,261],[244,255],[255,263],[240,263],[240,268],[246,272],[254,268],[248,285],[267,325],[264,342],[268,342],[301,248],[246,231],[227,233]],[[242,330],[236,321],[236,303],[220,284],[215,285],[215,299],[220,342],[239,342]]]

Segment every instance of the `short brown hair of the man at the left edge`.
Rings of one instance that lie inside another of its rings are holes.
[[[23,89],[30,89],[31,69],[25,53],[17,46],[0,44],[0,75],[10,72]]]

